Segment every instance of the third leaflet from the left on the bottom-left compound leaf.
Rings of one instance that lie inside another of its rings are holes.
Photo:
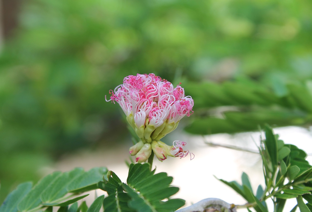
[[[82,168],[75,168],[69,172],[64,172],[51,183],[40,195],[42,202],[51,203],[67,194],[67,186],[76,180],[76,177],[83,174]]]

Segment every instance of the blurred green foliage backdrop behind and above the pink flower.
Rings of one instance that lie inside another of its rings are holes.
[[[0,203],[66,155],[127,149],[105,95],[128,75],[182,82],[195,102],[188,133],[309,128],[311,11],[291,0],[1,0]]]

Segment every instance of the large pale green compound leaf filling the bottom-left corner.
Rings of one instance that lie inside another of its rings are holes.
[[[67,206],[88,196],[82,195],[70,200],[73,194],[66,196],[68,192],[78,193],[91,189],[97,189],[97,182],[103,179],[107,169],[98,167],[85,172],[82,168],[76,168],[69,172],[53,172],[42,178],[34,187],[31,183],[23,183],[17,187],[0,207],[1,212],[27,212],[37,211],[44,206],[60,206],[60,210],[66,210]],[[66,200],[66,201],[64,201]],[[51,207],[47,208],[49,211]],[[44,208],[42,210],[45,210]],[[77,210],[76,210],[77,211]]]

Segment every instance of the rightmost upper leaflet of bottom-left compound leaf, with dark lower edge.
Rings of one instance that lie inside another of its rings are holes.
[[[103,179],[103,175],[106,173],[107,169],[104,167],[93,168],[72,181],[67,186],[67,191],[71,193],[82,193],[97,189],[97,183]]]

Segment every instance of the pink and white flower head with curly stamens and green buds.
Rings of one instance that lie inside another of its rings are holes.
[[[139,154],[139,162],[150,155],[147,153],[150,147],[161,161],[167,155],[180,158],[188,155],[189,152],[182,148],[185,142],[174,141],[169,147],[159,141],[173,131],[185,115],[193,113],[194,101],[191,96],[184,95],[180,85],[174,88],[172,83],[155,74],[137,74],[125,77],[123,84],[114,91],[110,90],[110,94],[110,100],[106,101],[120,105],[130,126],[141,139],[138,145],[130,148],[131,155]]]

